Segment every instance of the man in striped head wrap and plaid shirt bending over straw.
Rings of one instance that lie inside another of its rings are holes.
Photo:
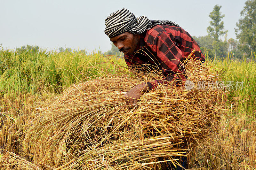
[[[105,34],[124,53],[125,62],[130,68],[136,64],[150,64],[160,69],[165,76],[163,80],[138,84],[128,91],[125,99],[129,108],[136,105],[142,92],[156,88],[158,83],[185,81],[183,60],[193,49],[196,50],[193,57],[205,60],[195,40],[175,22],[149,20],[146,16],[136,19],[133,13],[123,8],[110,14],[105,19],[105,25]],[[148,53],[136,53],[140,49]]]

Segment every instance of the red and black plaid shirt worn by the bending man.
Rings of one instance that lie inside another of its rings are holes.
[[[147,83],[149,89],[152,89],[156,88],[158,83],[185,81],[186,73],[182,63],[193,49],[196,51],[192,56],[205,61],[198,44],[184,29],[178,26],[157,25],[140,34],[137,51],[130,56],[124,55],[124,59],[131,69],[150,65],[161,70],[164,79]]]

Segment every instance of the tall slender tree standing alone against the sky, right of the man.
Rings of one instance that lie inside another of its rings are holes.
[[[210,12],[209,17],[212,19],[210,21],[210,26],[207,27],[208,35],[211,36],[214,41],[212,43],[214,50],[214,59],[216,59],[216,53],[220,54],[221,50],[223,50],[223,46],[227,47],[227,42],[220,41],[220,37],[223,35],[227,35],[227,30],[224,30],[224,23],[221,19],[225,16],[221,15],[220,5],[215,5],[213,7],[212,12]]]

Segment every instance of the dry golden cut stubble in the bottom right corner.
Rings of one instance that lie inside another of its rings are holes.
[[[223,119],[219,135],[204,151],[204,165],[208,169],[255,169],[256,126],[245,118]]]

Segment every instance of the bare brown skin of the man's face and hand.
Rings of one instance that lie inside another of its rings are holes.
[[[129,32],[125,32],[123,34],[110,38],[110,41],[113,42],[113,44],[119,49],[119,51],[123,52],[126,55],[132,55],[139,43],[139,40],[140,35],[134,35]],[[125,103],[128,108],[136,106],[142,93],[146,92],[147,90],[148,87],[146,83],[141,83],[128,91],[124,95]]]

